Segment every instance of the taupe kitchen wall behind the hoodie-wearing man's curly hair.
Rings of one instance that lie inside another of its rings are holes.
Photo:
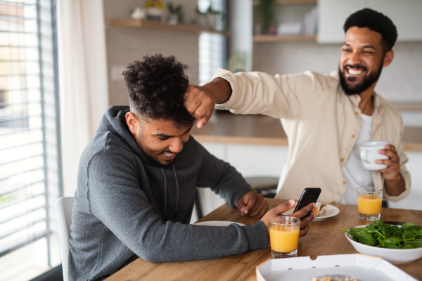
[[[104,0],[104,18],[109,20],[129,19],[132,8],[141,6],[139,0]],[[166,1],[167,2],[167,1]],[[188,22],[195,17],[196,0],[172,0],[182,4]],[[192,84],[198,84],[198,35],[179,32],[158,32],[136,28],[106,27],[108,65],[108,91],[110,105],[127,105],[127,91],[120,73],[125,65],[141,60],[143,55],[162,53],[174,55],[188,65],[186,74]]]

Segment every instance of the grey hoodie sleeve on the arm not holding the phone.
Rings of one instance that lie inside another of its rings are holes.
[[[236,207],[236,201],[252,188],[233,166],[210,154],[203,145],[195,142],[202,157],[196,185],[199,188],[211,188],[231,207]]]

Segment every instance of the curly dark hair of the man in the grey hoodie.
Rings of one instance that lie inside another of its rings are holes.
[[[177,126],[192,126],[193,118],[184,107],[189,80],[187,65],[173,55],[144,55],[122,72],[129,94],[129,106],[136,116],[173,121]]]

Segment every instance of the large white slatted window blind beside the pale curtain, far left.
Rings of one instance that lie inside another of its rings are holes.
[[[0,1],[0,280],[60,263],[55,28],[55,1]]]

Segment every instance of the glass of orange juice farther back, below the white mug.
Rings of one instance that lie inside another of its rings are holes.
[[[382,201],[382,188],[357,188],[357,211],[359,212],[359,219],[363,221],[376,221],[380,219]]]

